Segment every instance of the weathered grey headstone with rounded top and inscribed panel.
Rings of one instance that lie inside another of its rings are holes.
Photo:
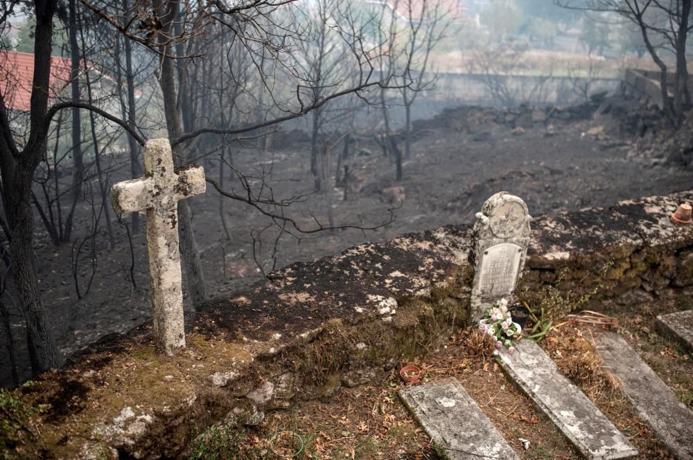
[[[522,275],[530,229],[527,205],[517,196],[498,192],[476,214],[474,224],[475,274],[471,295],[471,320],[503,297],[511,300]]]

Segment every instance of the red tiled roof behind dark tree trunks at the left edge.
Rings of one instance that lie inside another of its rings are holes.
[[[28,112],[34,77],[34,55],[0,52],[0,93],[10,110]],[[51,56],[50,96],[55,98],[70,81],[70,60]]]

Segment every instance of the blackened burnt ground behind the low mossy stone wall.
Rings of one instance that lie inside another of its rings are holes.
[[[273,265],[279,268],[293,261],[309,261],[357,243],[386,241],[397,234],[448,223],[471,223],[486,198],[500,190],[521,196],[536,216],[692,187],[693,168],[653,161],[651,144],[644,158],[637,151],[633,155],[633,149],[640,144],[630,134],[618,134],[623,132],[622,119],[549,119],[513,131],[507,124],[493,121],[497,113],[489,113],[489,109],[450,111],[420,124],[425,129],[416,133],[412,156],[405,158],[404,177],[398,182],[394,181],[392,158],[383,156],[375,145],[362,143],[358,146],[360,154],[349,160],[352,174],[346,201],[342,187],[327,187],[326,192],[309,194],[284,209],[301,228],[312,230],[317,227],[315,219],[328,225],[329,208],[336,225],[362,223],[367,227],[386,223],[388,209],[396,208],[396,219],[376,231],[346,229],[297,234],[292,230],[294,236],[281,234],[275,253],[277,227],[263,230],[272,222],[246,203],[225,202],[222,214],[231,239],[225,237],[219,195],[208,185],[207,193],[191,199],[191,205],[209,294],[227,295],[238,286],[261,279],[262,272],[268,273]],[[460,120],[453,123],[452,118]],[[285,142],[275,147],[269,151],[235,151],[234,165],[249,176],[265,175],[275,198],[310,193],[310,146],[306,142]],[[335,148],[335,154],[336,150],[341,151],[341,146]],[[658,156],[656,149],[654,156]],[[204,166],[208,176],[218,178],[218,167],[213,163],[211,160]],[[335,165],[329,169],[334,170]],[[258,179],[249,183],[254,190],[261,185]],[[334,184],[333,178],[329,183]],[[232,186],[240,191],[238,181]],[[390,187],[402,190],[393,193]],[[396,196],[400,192],[403,201]],[[89,233],[89,214],[90,208],[81,208],[76,225],[78,237]],[[292,226],[287,226],[286,230],[290,229]],[[71,263],[73,246],[52,246],[42,230],[37,221],[40,287],[49,324],[66,356],[107,333],[127,331],[148,318],[148,268],[142,231],[133,238],[137,286],[129,282],[130,250],[124,227],[114,223],[116,247],[108,247],[105,232],[98,235],[94,280],[89,293],[78,299]],[[89,248],[88,243],[85,248]],[[91,266],[89,250],[83,250],[76,277],[82,293]],[[13,298],[4,295],[1,301],[10,313],[19,315]],[[187,300],[186,304],[189,308]],[[21,318],[13,318],[19,371],[22,378],[27,378]],[[6,354],[0,353],[3,386],[10,385]]]

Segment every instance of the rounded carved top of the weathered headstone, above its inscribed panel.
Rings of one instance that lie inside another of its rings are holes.
[[[525,201],[508,192],[498,192],[486,200],[477,218],[500,239],[520,237],[532,221]]]

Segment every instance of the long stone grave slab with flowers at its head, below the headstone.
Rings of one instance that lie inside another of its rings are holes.
[[[626,459],[638,451],[611,421],[532,340],[520,340],[516,353],[501,351],[502,368],[520,389],[590,460]]]

